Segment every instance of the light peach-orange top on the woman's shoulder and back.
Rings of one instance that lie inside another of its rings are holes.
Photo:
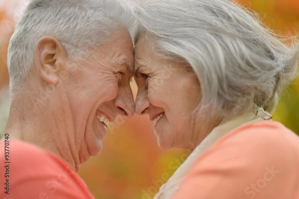
[[[171,199],[299,199],[299,137],[275,121],[242,125],[196,160]]]

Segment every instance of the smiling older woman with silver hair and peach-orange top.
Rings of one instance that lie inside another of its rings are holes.
[[[192,150],[154,199],[298,199],[299,138],[272,121],[299,50],[229,0],[136,8],[136,112]]]

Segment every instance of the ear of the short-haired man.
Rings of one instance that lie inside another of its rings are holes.
[[[43,37],[37,42],[35,64],[37,73],[45,82],[53,85],[58,83],[64,60],[65,50],[55,38]]]

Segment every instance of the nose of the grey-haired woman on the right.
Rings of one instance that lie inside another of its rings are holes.
[[[147,114],[149,112],[149,107],[148,90],[144,88],[138,89],[135,112],[139,115]]]

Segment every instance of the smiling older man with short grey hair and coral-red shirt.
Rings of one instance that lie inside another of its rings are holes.
[[[1,199],[94,198],[76,172],[101,152],[109,122],[134,114],[128,8],[116,0],[28,5],[8,49]]]

